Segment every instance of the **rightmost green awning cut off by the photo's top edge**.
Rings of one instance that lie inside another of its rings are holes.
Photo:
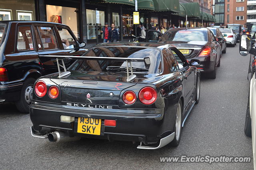
[[[171,11],[171,12],[179,12],[180,5],[179,0],[153,0],[155,11]]]

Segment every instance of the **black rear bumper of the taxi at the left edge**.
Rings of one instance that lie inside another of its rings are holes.
[[[22,82],[0,84],[0,102],[14,102],[20,99]]]

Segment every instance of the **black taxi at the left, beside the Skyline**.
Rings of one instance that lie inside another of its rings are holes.
[[[60,35],[63,31],[65,39]],[[56,59],[39,56],[85,52],[82,47],[86,44],[79,44],[71,29],[63,24],[0,21],[0,32],[0,102],[15,102],[24,113],[29,113],[36,79],[58,71]],[[71,64],[70,60],[65,62],[67,66]]]

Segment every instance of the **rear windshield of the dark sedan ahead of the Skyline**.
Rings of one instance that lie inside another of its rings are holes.
[[[159,41],[207,41],[207,35],[199,30],[168,31]]]

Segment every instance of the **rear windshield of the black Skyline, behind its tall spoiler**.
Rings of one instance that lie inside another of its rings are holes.
[[[138,48],[138,47],[94,47],[86,51],[83,55],[86,57],[120,57],[120,58],[150,58],[150,67],[146,70],[135,70],[134,74],[157,74],[162,71],[161,67],[161,53],[158,49]],[[146,69],[144,62],[131,62],[132,67]],[[116,67],[115,67],[116,66]],[[108,68],[108,70],[107,70]],[[94,61],[94,60],[78,60],[69,70],[80,71],[97,71],[97,72],[111,72],[109,68],[126,68],[126,62],[123,61]],[[124,72],[113,71],[113,72]]]

